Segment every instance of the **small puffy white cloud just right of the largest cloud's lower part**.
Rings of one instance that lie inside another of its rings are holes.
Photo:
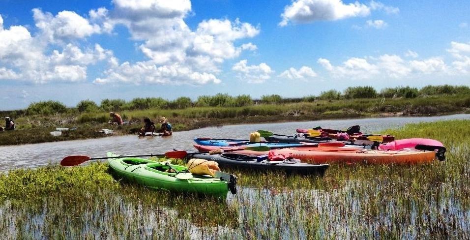
[[[247,65],[247,60],[241,60],[232,66],[232,70],[237,73],[237,77],[248,83],[264,83],[271,78],[274,72],[266,63],[259,65]]]

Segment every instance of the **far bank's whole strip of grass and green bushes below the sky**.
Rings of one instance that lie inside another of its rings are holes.
[[[451,93],[449,93],[451,92]],[[433,93],[429,95],[428,93]],[[253,123],[283,120],[317,120],[388,115],[436,115],[470,113],[470,90],[466,86],[428,86],[421,90],[410,87],[384,89],[377,93],[371,87],[351,87],[344,94],[336,90],[319,97],[282,98],[264,95],[261,100],[249,95],[231,96],[219,93],[203,95],[192,102],[188,97],[168,101],[160,97],[104,99],[98,106],[90,100],[76,108],[66,108],[57,101],[32,103],[26,110],[0,112],[15,120],[17,131],[0,132],[0,145],[40,143],[103,137],[97,132],[112,129],[115,134],[134,134],[142,123],[112,126],[106,124],[109,111],[118,112],[125,121],[169,118],[174,131],[231,123]],[[417,95],[416,95],[417,94]],[[372,97],[375,98],[354,98]],[[256,104],[255,104],[256,103]],[[56,127],[78,127],[53,137]]]

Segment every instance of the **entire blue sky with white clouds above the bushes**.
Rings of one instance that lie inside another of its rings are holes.
[[[469,0],[0,0],[0,110],[470,86]]]

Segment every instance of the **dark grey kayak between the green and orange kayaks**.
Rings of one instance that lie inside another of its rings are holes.
[[[271,164],[269,162],[258,161],[256,156],[246,155],[240,153],[222,153],[222,154],[194,154],[194,158],[202,158],[209,161],[215,161],[221,168],[250,170],[262,173],[273,171],[283,172],[287,175],[315,175],[323,176],[327,164],[308,164],[308,163],[291,163],[286,161],[284,163]]]

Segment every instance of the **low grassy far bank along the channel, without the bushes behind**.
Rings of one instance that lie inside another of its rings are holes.
[[[245,107],[191,107],[185,109],[125,110],[119,112],[124,120],[153,120],[161,116],[170,119],[175,131],[231,123],[257,123],[273,121],[301,121],[376,116],[428,116],[450,113],[469,113],[467,95],[427,96],[416,98],[371,98],[316,100],[285,104],[258,104]],[[41,143],[104,137],[101,129],[111,129],[115,135],[134,134],[141,122],[113,126],[107,112],[62,113],[55,115],[20,115],[15,119],[18,130],[0,132],[0,145]],[[53,137],[49,132],[56,127],[77,127]]]

